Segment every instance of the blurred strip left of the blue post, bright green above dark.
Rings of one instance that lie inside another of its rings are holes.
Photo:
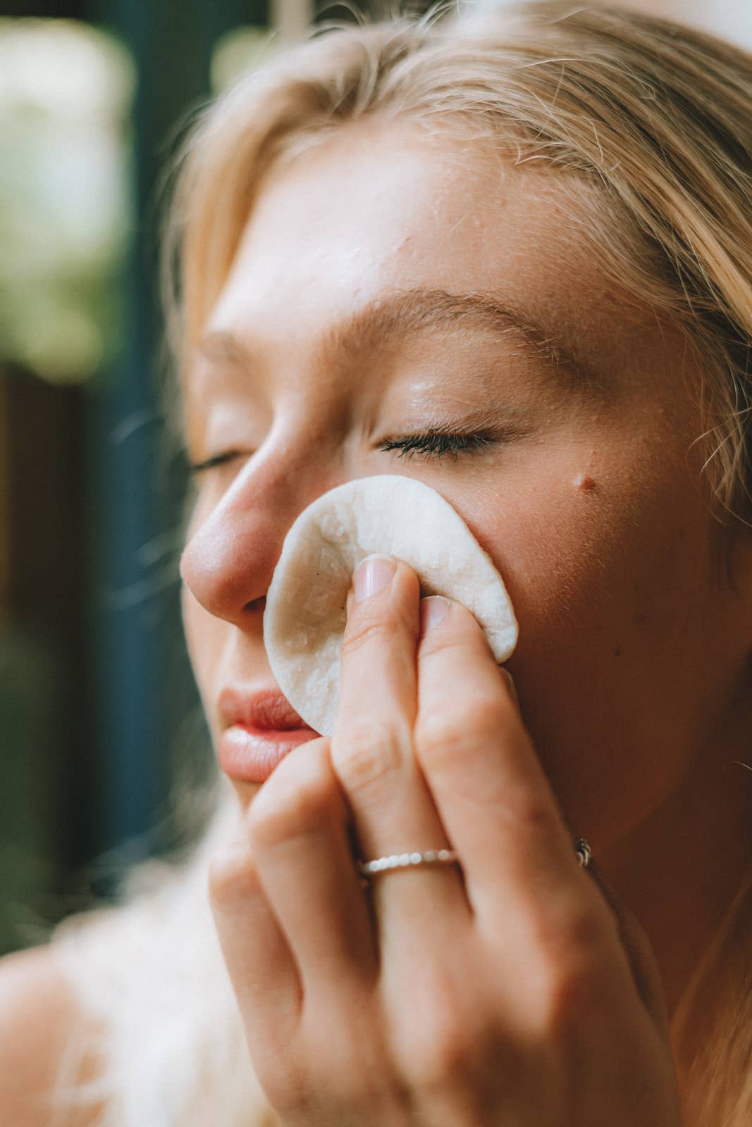
[[[134,89],[115,35],[0,19],[0,951],[96,850],[87,406],[125,328]]]

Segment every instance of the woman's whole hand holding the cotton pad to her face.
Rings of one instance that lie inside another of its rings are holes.
[[[354,837],[460,863],[364,888]],[[577,863],[483,631],[407,565],[351,594],[336,731],[277,766],[210,886],[290,1127],[679,1124],[655,968]]]

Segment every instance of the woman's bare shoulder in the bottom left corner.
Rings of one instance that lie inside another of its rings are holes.
[[[0,1109],[2,1124],[50,1127],[52,1094],[65,1049],[74,1037],[95,1031],[48,948],[0,959]],[[82,1062],[77,1080],[92,1075],[94,1059]],[[97,1109],[54,1120],[89,1127]]]

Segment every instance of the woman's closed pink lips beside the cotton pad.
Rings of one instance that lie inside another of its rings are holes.
[[[224,689],[219,698],[222,771],[239,782],[262,783],[300,744],[318,738],[278,689]]]

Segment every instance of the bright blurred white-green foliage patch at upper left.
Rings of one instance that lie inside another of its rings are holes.
[[[117,348],[135,70],[112,35],[0,19],[0,361],[78,382]]]

